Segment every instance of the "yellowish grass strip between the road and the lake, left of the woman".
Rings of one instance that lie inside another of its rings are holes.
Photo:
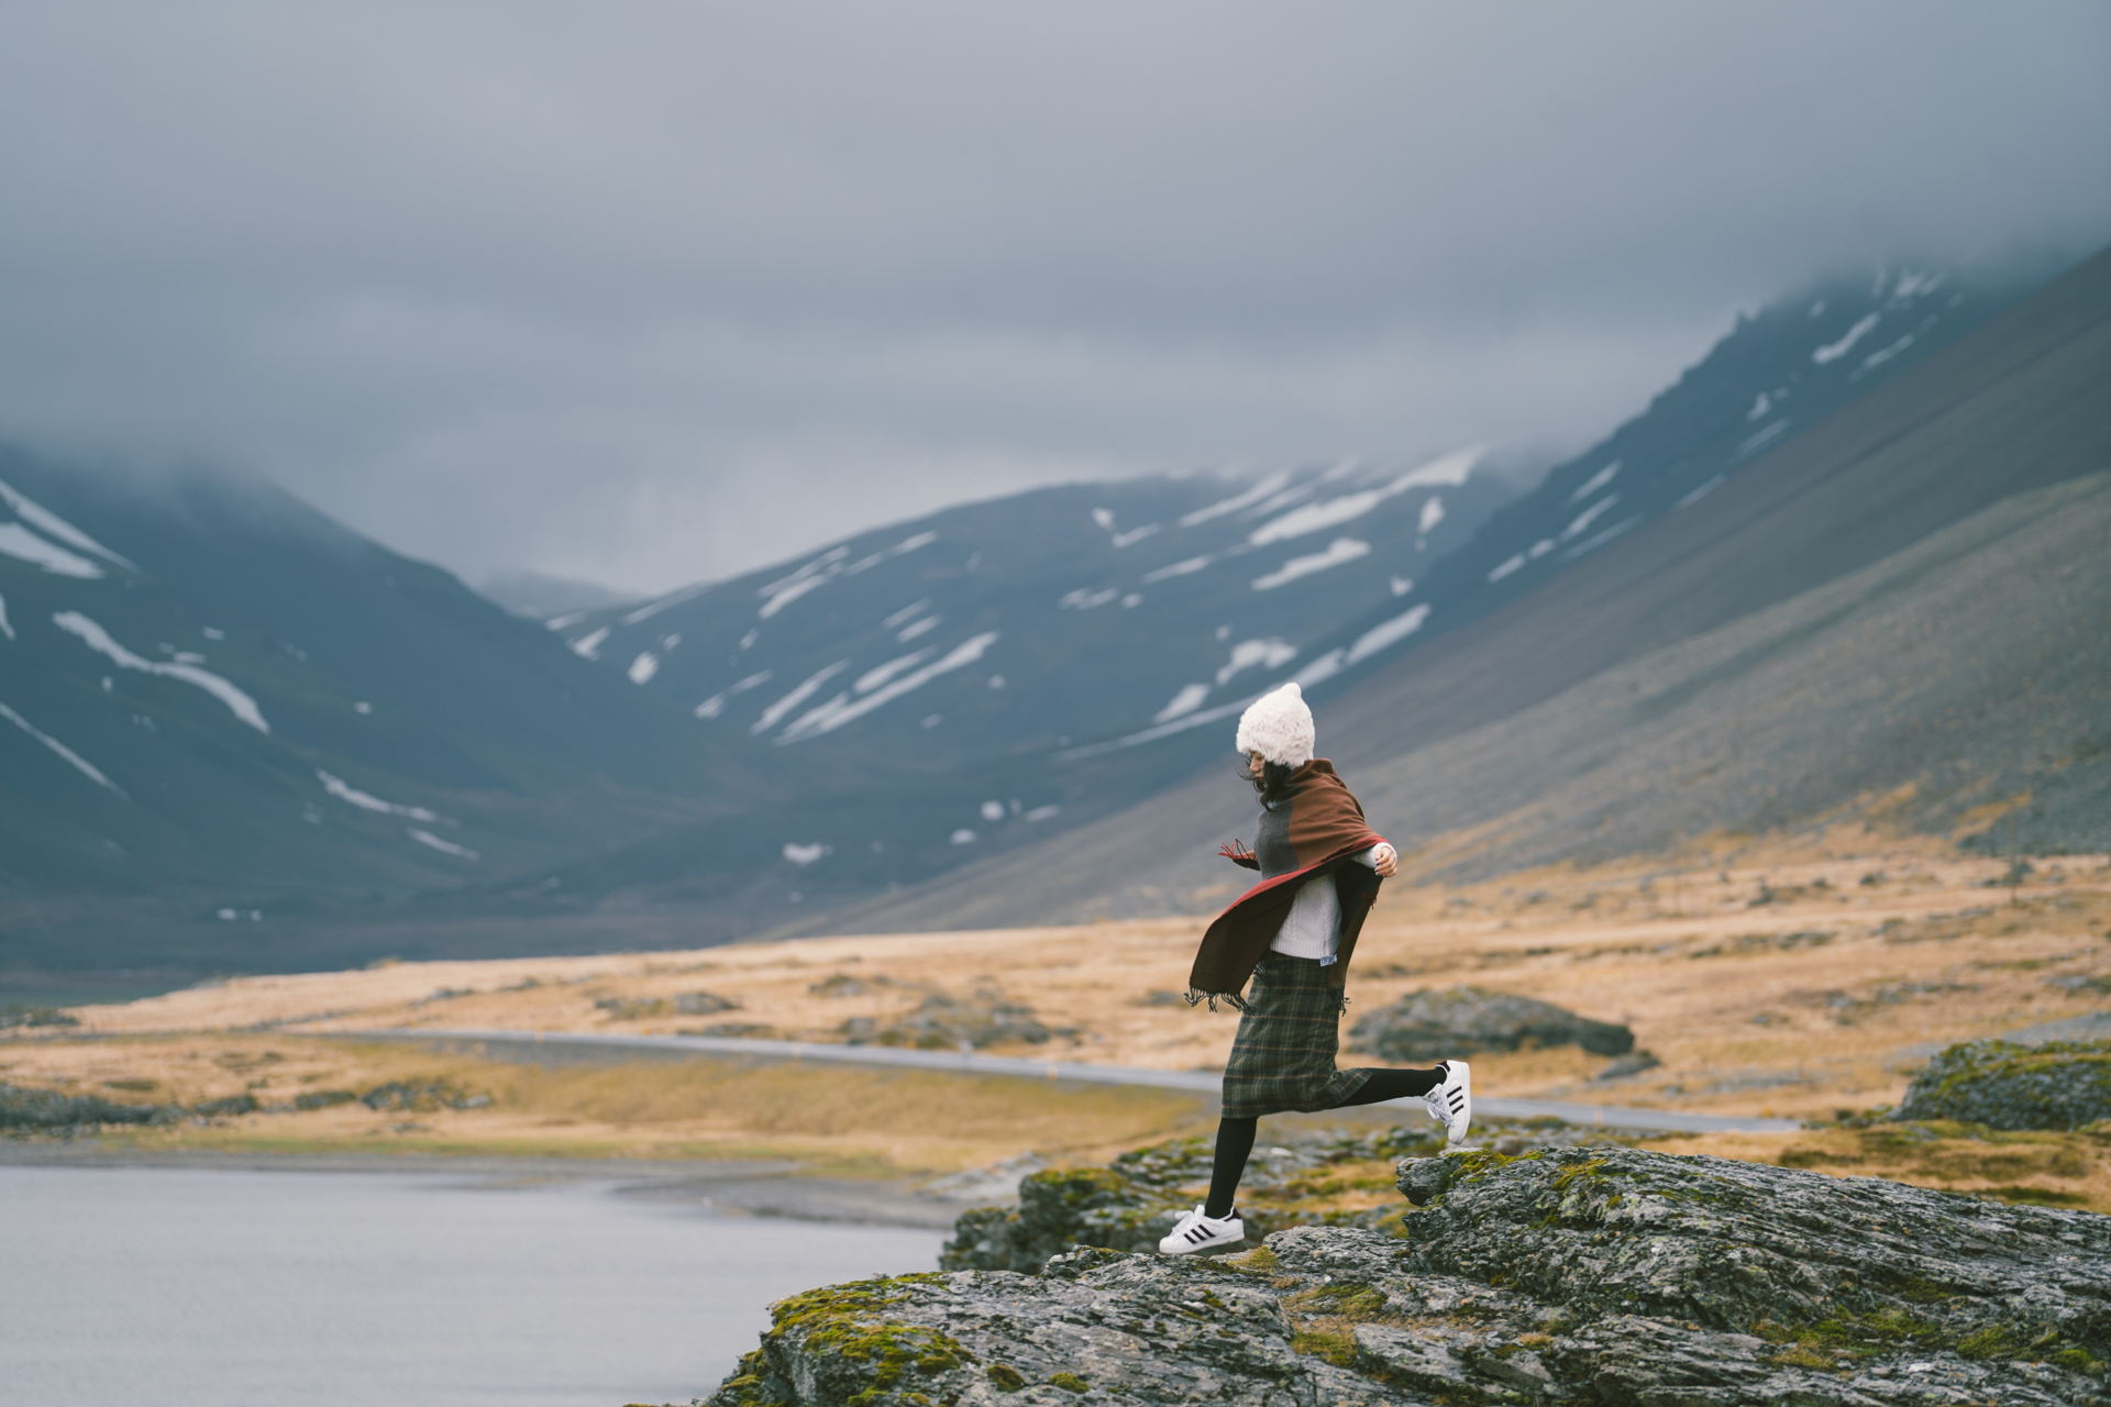
[[[473,1110],[338,1103],[103,1135],[139,1150],[764,1158],[897,1175],[952,1173],[1030,1150],[1100,1162],[1207,1124],[1201,1099],[1138,1086],[709,1059],[543,1069],[315,1036],[15,1042],[0,1046],[0,1080],[182,1105],[241,1093],[287,1105],[304,1093],[365,1093],[391,1080],[492,1097]]]

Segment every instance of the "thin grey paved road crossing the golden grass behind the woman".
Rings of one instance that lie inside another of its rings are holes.
[[[836,1065],[893,1065],[906,1069],[950,1069],[977,1076],[1015,1076],[1079,1084],[1148,1084],[1153,1088],[1184,1088],[1216,1095],[1222,1078],[1203,1069],[1134,1069],[1125,1065],[1079,1065],[1034,1061],[1011,1055],[954,1055],[948,1051],[901,1051],[897,1046],[836,1046],[800,1040],[739,1040],[726,1036],[614,1036],[597,1032],[471,1032],[471,1029],[391,1029],[329,1032],[346,1040],[407,1040],[433,1044],[475,1042],[498,1046],[498,1053],[526,1055],[524,1046],[551,1046],[583,1059],[610,1055],[646,1055],[682,1059],[690,1055],[730,1055],[752,1061],[815,1061]],[[1393,1099],[1393,1107],[1421,1110],[1421,1099]],[[1651,1133],[1794,1133],[1803,1124],[1792,1118],[1725,1118],[1720,1114],[1685,1114],[1680,1110],[1634,1110],[1611,1103],[1568,1103],[1560,1099],[1473,1099],[1473,1112],[1488,1118],[1564,1118],[1571,1124],[1602,1124]]]

